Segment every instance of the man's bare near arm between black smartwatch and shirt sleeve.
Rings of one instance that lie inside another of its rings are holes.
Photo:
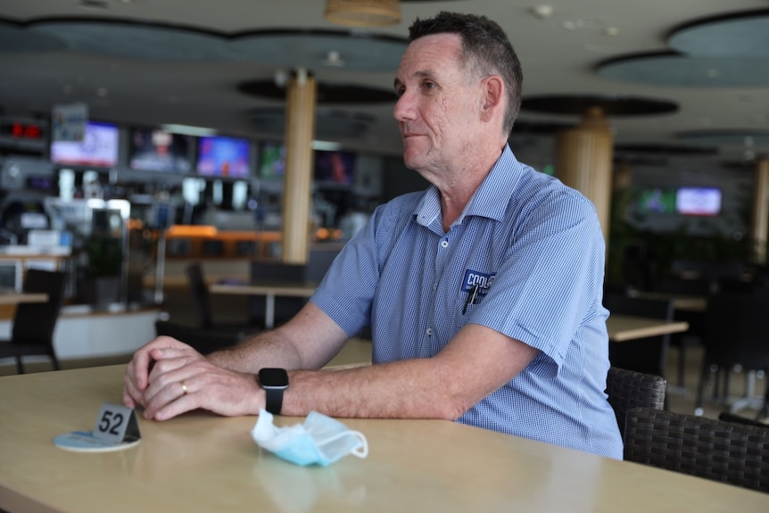
[[[468,324],[433,358],[290,372],[282,413],[453,420],[505,385],[538,353],[488,327]]]

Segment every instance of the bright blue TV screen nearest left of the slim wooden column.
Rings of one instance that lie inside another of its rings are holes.
[[[203,177],[248,178],[250,145],[234,137],[200,137],[197,172]]]

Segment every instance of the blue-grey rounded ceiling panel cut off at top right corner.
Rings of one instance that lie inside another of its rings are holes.
[[[769,11],[695,21],[675,29],[668,44],[689,55],[769,58]]]

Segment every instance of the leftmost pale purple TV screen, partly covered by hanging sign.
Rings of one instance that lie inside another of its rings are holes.
[[[51,143],[51,161],[70,166],[112,168],[118,165],[119,141],[117,125],[88,121],[82,141]]]

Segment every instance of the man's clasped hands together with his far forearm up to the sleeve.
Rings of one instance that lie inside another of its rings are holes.
[[[320,368],[347,340],[343,329],[308,303],[283,327],[203,357],[186,343],[159,336],[134,354],[124,377],[123,402],[165,420],[203,408],[221,415],[256,414],[264,393],[260,368]]]

